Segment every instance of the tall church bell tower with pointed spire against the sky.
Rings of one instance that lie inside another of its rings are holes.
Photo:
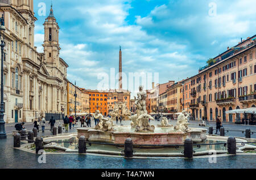
[[[56,67],[59,63],[59,25],[53,15],[53,9],[51,10],[44,22],[44,54],[46,57],[47,66]],[[53,71],[49,71],[51,75],[55,75]]]

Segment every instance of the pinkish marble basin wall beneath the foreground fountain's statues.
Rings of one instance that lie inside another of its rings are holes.
[[[114,144],[123,144],[126,138],[131,138],[134,145],[183,144],[187,138],[191,138],[194,143],[199,143],[207,139],[205,128],[191,128],[188,132],[179,132],[173,127],[162,127],[156,129],[156,132],[133,132],[130,126],[117,126],[115,130],[118,131],[88,130],[81,127],[77,128],[77,138],[85,136],[90,142]]]

